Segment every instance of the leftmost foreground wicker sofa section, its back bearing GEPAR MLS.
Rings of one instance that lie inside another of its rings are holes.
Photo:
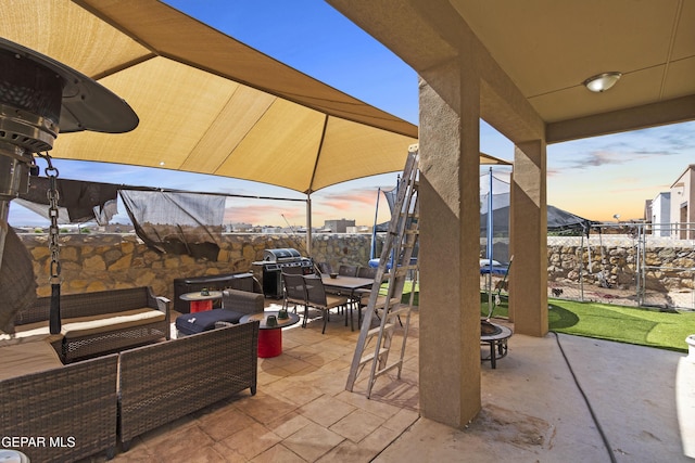
[[[50,346],[49,346],[50,348]],[[116,448],[118,356],[0,381],[3,448],[33,462],[68,462]]]

